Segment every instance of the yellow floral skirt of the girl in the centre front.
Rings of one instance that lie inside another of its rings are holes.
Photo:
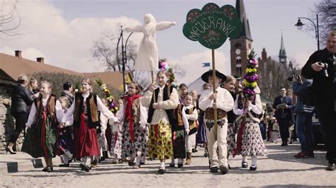
[[[169,159],[173,155],[172,129],[170,124],[150,125],[150,137],[148,140],[148,155],[150,158]]]

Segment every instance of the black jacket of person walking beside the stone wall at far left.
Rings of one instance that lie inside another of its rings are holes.
[[[29,113],[30,106],[33,104],[34,99],[30,95],[30,91],[21,84],[18,84],[13,89],[11,94],[11,113]]]

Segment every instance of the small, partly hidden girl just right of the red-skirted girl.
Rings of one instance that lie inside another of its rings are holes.
[[[123,106],[123,99],[117,100],[117,107],[118,109],[121,109]],[[116,117],[121,118],[119,121],[122,120],[123,114],[121,110],[118,110],[118,112],[115,112]],[[111,123],[111,134],[112,134],[112,141],[111,141],[111,156],[113,157],[112,163],[122,163],[121,160],[121,150],[122,150],[122,141],[123,141],[123,134],[122,134],[122,125],[121,124],[114,124]]]

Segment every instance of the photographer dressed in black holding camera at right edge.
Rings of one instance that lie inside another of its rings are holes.
[[[336,163],[336,112],[335,112],[335,53],[336,30],[327,37],[327,47],[314,52],[302,69],[302,75],[313,78],[318,119],[325,130],[328,165],[326,170],[335,170]],[[332,103],[334,101],[334,103]]]

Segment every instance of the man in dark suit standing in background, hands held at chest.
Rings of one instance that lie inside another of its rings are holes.
[[[279,123],[281,146],[287,146],[289,139],[289,126],[293,123],[293,100],[286,96],[286,89],[280,89],[280,95],[274,99],[273,108],[275,109],[276,121]]]

